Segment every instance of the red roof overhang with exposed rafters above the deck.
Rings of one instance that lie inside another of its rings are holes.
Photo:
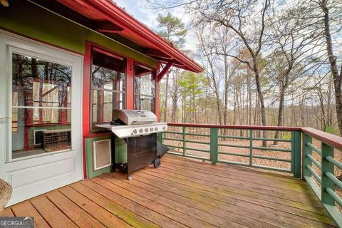
[[[33,0],[108,37],[119,37],[139,47],[140,52],[160,63],[196,73],[203,68],[170,42],[130,16],[109,0]],[[57,2],[56,2],[57,1]],[[58,6],[57,6],[58,4]]]

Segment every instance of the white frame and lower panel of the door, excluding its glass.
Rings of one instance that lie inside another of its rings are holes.
[[[21,53],[72,67],[71,150],[11,158],[11,53]],[[83,56],[0,30],[0,178],[14,188],[8,204],[83,179]]]

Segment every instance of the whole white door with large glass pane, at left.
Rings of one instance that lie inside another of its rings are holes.
[[[82,63],[0,30],[0,178],[8,206],[83,178]]]

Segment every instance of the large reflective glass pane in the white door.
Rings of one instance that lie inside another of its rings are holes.
[[[12,54],[12,158],[71,148],[71,66]]]

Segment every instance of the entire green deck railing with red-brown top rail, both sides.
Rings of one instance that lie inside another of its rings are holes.
[[[342,227],[342,214],[336,207],[336,204],[342,207],[342,199],[336,194],[335,189],[336,186],[342,189],[342,182],[334,175],[336,168],[342,169],[342,163],[334,157],[334,149],[342,150],[341,137],[312,128],[187,123],[169,123],[168,126],[169,130],[160,134],[159,140],[170,147],[170,154],[208,160],[212,164],[224,162],[231,165],[288,172],[294,177],[302,177],[321,200],[333,221],[338,227]],[[284,137],[264,138],[261,136],[264,135],[262,134],[264,131],[280,131],[284,133]],[[313,138],[321,142],[321,148],[312,143]],[[235,140],[234,143],[232,140]],[[287,144],[287,147],[265,147],[259,145],[262,141],[279,142]],[[227,148],[233,151],[227,151]],[[244,152],[237,152],[238,150],[244,150]],[[269,156],[267,152],[274,153]],[[316,160],[317,156],[313,155],[313,152],[321,157],[320,162]],[[260,160],[267,160],[271,165],[260,165],[258,162]],[[286,168],[284,168],[284,163],[287,164]],[[315,171],[316,169],[321,171],[320,174]]]

